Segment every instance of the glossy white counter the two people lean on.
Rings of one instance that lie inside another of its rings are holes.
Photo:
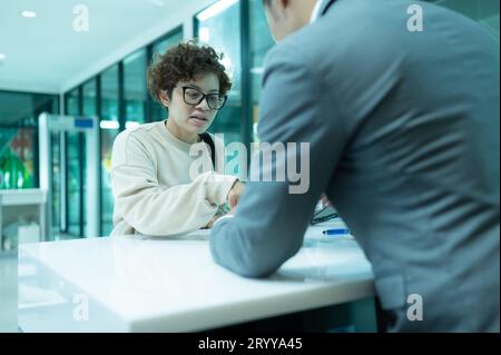
[[[22,245],[19,324],[24,332],[191,332],[373,296],[358,245],[322,241],[326,226],[311,227],[299,253],[265,279],[215,264],[208,230]]]

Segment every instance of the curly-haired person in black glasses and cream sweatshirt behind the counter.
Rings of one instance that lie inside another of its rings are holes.
[[[168,118],[122,131],[115,140],[111,236],[183,234],[210,227],[226,203],[235,207],[243,185],[214,170],[213,154],[224,147],[205,132],[232,87],[222,56],[189,41],[148,68],[149,91],[168,108]],[[202,151],[202,157],[193,151]],[[194,178],[190,169],[197,159],[210,168]]]

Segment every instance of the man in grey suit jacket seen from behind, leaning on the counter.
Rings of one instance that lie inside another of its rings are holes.
[[[325,191],[372,263],[390,331],[499,332],[499,41],[428,2],[315,3],[265,1],[279,43],[258,127],[262,141],[310,142],[310,189],[249,183],[214,226],[215,260],[269,275]],[[412,294],[421,322],[406,317]]]

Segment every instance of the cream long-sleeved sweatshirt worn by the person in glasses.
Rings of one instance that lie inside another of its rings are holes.
[[[213,140],[218,151],[223,142],[214,136]],[[176,235],[210,221],[218,206],[226,203],[236,177],[215,172],[208,147],[204,142],[194,145],[174,137],[165,120],[118,135],[111,157],[111,236]],[[203,154],[190,156],[190,148]],[[206,169],[200,168],[191,180],[189,170],[195,160],[203,161]]]

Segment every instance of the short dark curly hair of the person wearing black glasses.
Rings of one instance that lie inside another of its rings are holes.
[[[194,80],[199,73],[214,72],[219,79],[219,91],[223,95],[232,88],[232,81],[219,62],[218,55],[209,46],[198,46],[195,41],[179,43],[164,55],[156,56],[148,67],[148,90],[153,98],[159,101],[161,90],[171,98],[174,87],[183,80]]]

